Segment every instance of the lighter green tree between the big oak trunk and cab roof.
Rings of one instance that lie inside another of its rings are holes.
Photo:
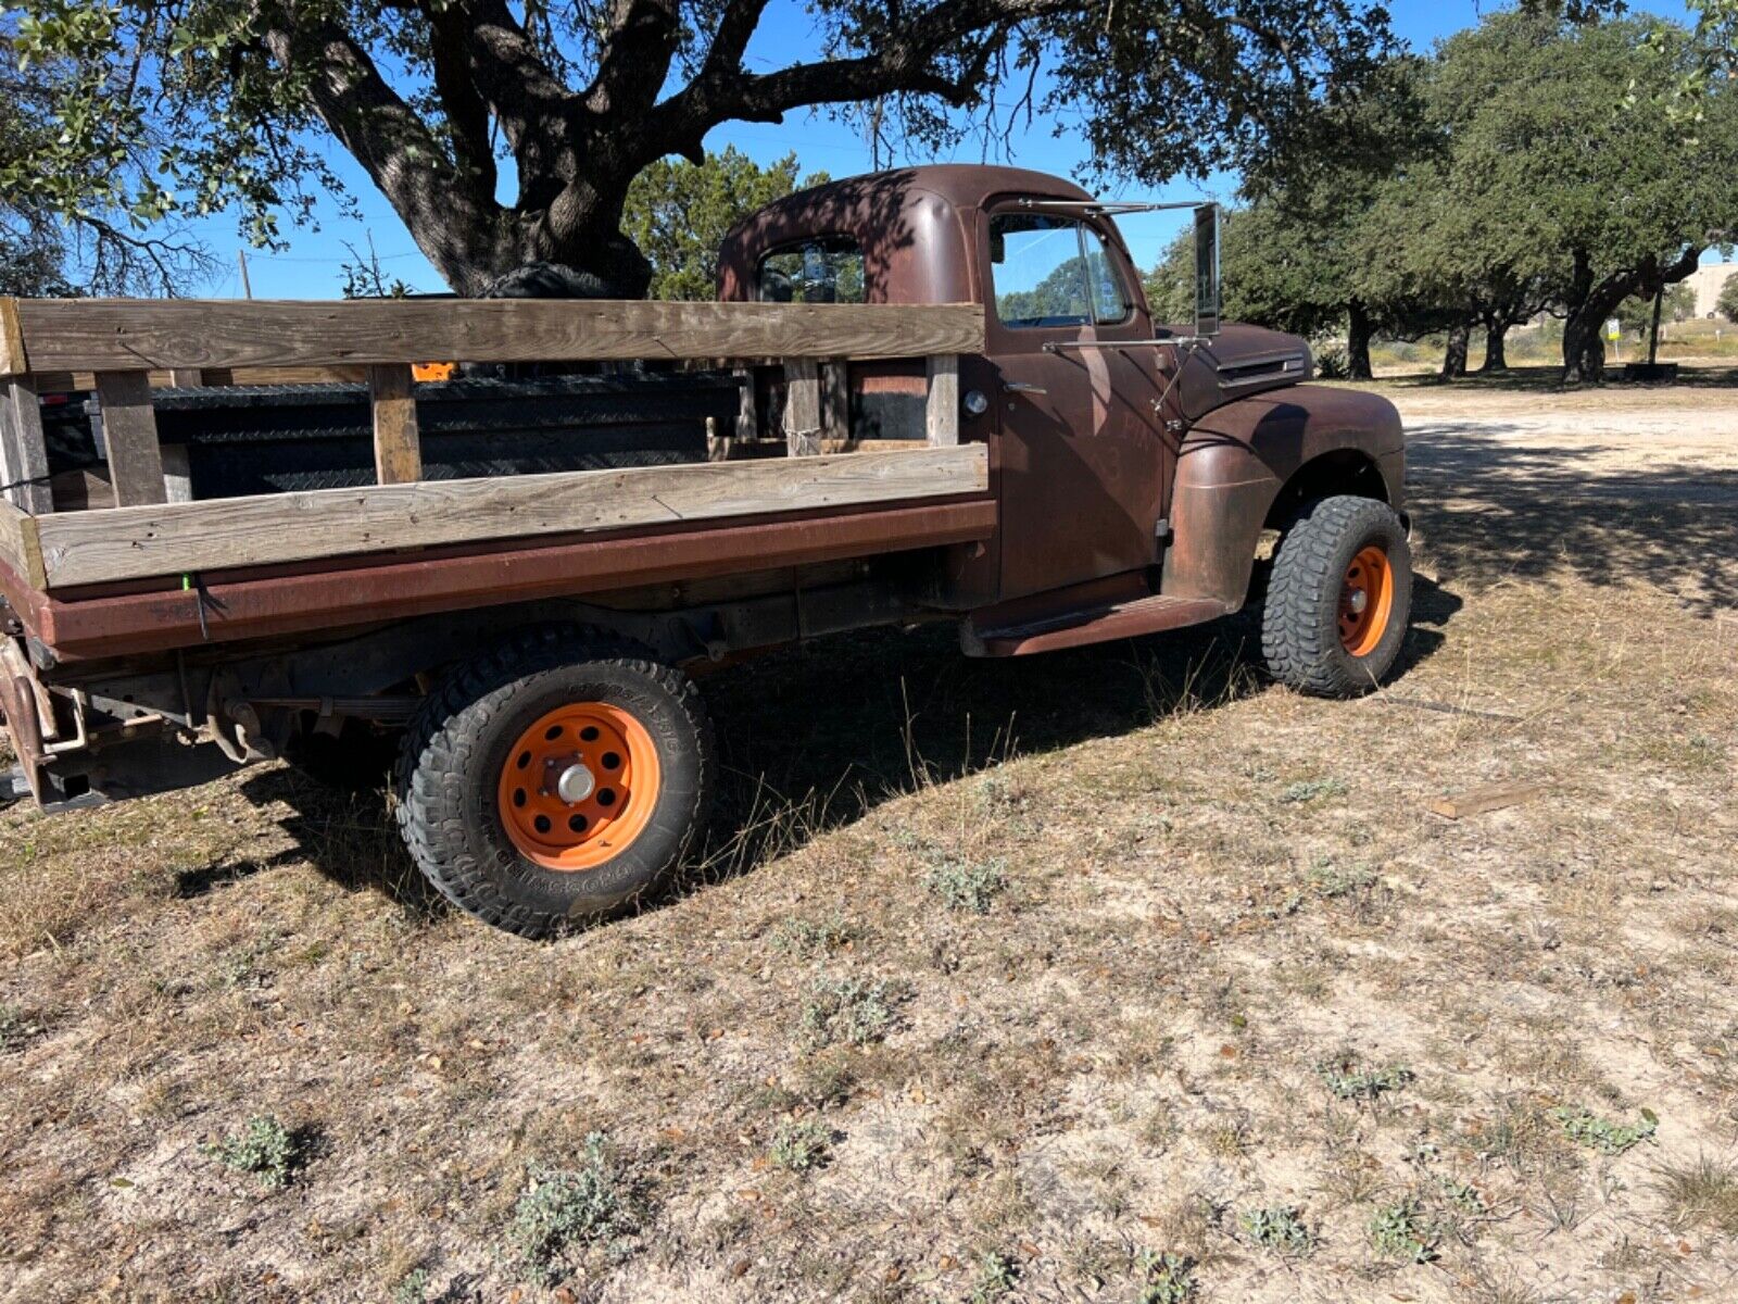
[[[711,299],[718,247],[737,223],[796,190],[826,184],[815,172],[798,184],[796,155],[772,167],[726,146],[706,162],[660,158],[627,188],[622,231],[652,263],[650,297]]]

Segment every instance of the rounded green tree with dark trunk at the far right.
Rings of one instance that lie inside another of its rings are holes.
[[[1493,14],[1439,52],[1458,205],[1443,224],[1463,235],[1432,247],[1465,242],[1472,263],[1552,283],[1571,384],[1602,376],[1618,306],[1689,276],[1738,214],[1738,94],[1710,87],[1695,134],[1648,103],[1700,57],[1670,24],[1526,14]]]

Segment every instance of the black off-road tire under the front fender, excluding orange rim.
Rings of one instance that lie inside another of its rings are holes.
[[[1347,570],[1366,548],[1387,556],[1392,598],[1363,655],[1340,636]],[[1357,697],[1394,668],[1411,617],[1411,548],[1387,502],[1324,497],[1304,504],[1279,541],[1262,600],[1262,655],[1281,683],[1314,697]]]

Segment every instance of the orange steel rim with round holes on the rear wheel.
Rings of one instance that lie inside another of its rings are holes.
[[[544,869],[582,873],[627,850],[662,786],[652,735],[607,702],[549,711],[501,765],[501,824]]]

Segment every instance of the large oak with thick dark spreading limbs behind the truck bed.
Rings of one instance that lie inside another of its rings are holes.
[[[330,137],[455,290],[542,261],[638,296],[652,266],[620,230],[633,179],[671,155],[704,163],[721,123],[822,106],[872,125],[878,144],[933,150],[1010,130],[1020,111],[1065,111],[1105,176],[1156,183],[1260,155],[1392,42],[1373,0],[813,0],[820,57],[751,70],[766,10],[19,0],[12,49],[64,70],[64,130],[0,170],[0,190],[75,212],[85,188],[66,179],[101,169],[118,210],[231,209],[271,242],[339,190]],[[1151,129],[1161,122],[1173,127]]]

